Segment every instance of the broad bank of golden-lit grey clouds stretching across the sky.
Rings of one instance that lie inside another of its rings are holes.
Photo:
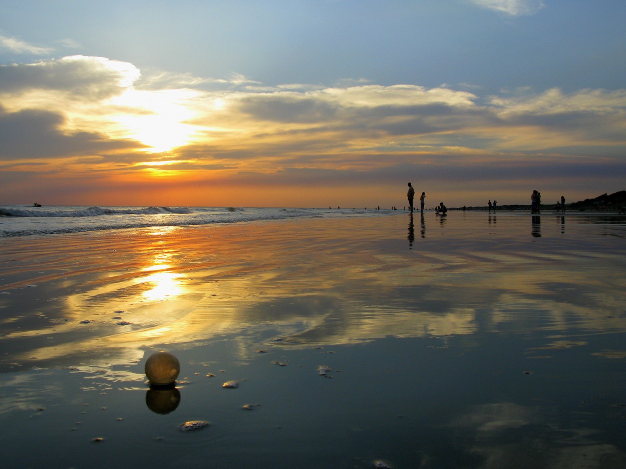
[[[524,200],[543,174],[580,190],[602,184],[602,193],[625,171],[626,90],[481,96],[449,86],[251,84],[142,75],[84,56],[0,66],[2,165],[109,171],[107,184],[172,178],[181,188],[252,184],[270,193],[296,183],[391,187],[419,174],[455,191],[500,184]],[[150,163],[163,161],[172,163]]]

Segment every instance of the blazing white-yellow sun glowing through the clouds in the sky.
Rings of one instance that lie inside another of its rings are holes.
[[[198,132],[188,122],[195,116],[192,90],[142,91],[128,88],[113,99],[111,115],[117,133],[145,144],[150,153],[162,153],[191,143]]]

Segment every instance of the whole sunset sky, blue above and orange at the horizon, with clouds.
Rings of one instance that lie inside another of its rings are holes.
[[[0,205],[626,189],[623,0],[4,0]]]

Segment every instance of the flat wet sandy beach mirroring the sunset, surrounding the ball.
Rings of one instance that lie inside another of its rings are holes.
[[[0,238],[4,463],[623,467],[625,237],[397,211]]]

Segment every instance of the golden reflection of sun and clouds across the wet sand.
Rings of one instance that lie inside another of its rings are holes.
[[[539,218],[532,217],[533,236],[539,236]],[[13,360],[29,363],[74,362],[76,351],[93,355],[96,363],[106,351],[111,363],[114,355],[136,360],[138,346],[201,342],[237,331],[254,348],[277,333],[290,338],[284,345],[297,347],[389,335],[471,335],[513,325],[521,330],[526,320],[528,327],[537,326],[536,311],[549,329],[626,326],[621,317],[607,320],[617,306],[613,288],[619,286],[589,281],[593,268],[601,266],[605,276],[618,258],[605,260],[588,246],[577,256],[580,240],[538,252],[536,246],[528,249],[513,227],[504,236],[485,233],[486,240],[506,245],[485,251],[481,243],[468,243],[475,233],[463,233],[467,226],[450,237],[446,231],[455,227],[448,223],[438,224],[446,236],[444,251],[441,241],[435,246],[422,238],[419,250],[409,255],[396,250],[397,228],[387,220],[384,229],[371,229],[382,222],[369,219],[332,227],[307,223],[314,228],[265,224],[260,235],[252,225],[192,229],[185,236],[172,229],[159,233],[156,245],[153,233],[129,236],[128,246],[117,236],[94,237],[91,257],[83,258],[79,273],[62,274],[62,294],[54,286],[57,298],[41,298],[47,303],[41,311],[55,322],[12,330],[5,321],[0,344],[20,341]],[[408,237],[413,245],[413,223]],[[17,288],[11,295],[19,300],[25,292]],[[10,311],[9,302],[9,316]],[[52,339],[46,343],[42,335]]]

